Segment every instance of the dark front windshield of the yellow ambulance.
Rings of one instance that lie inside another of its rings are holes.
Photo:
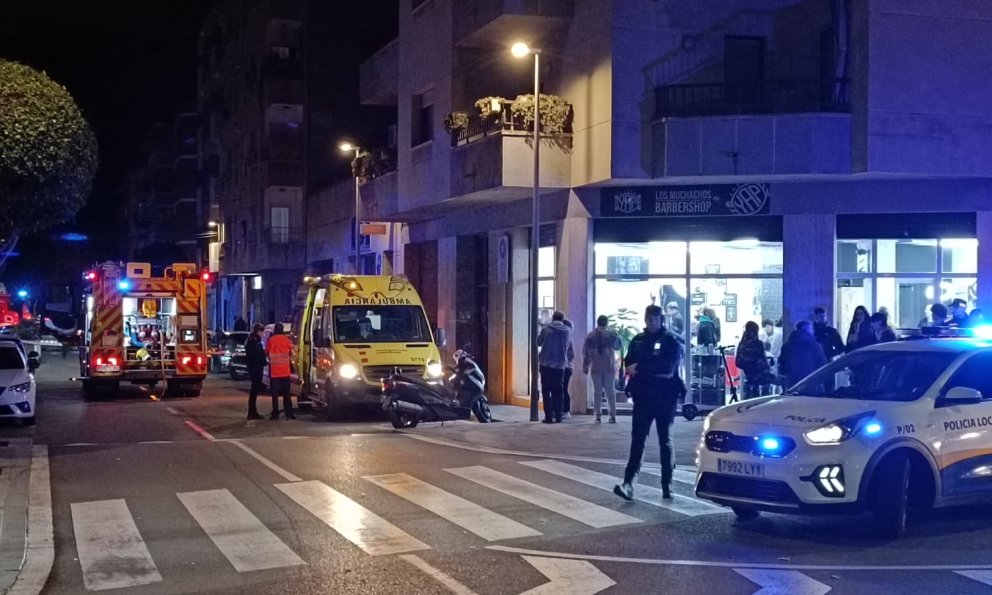
[[[426,343],[430,327],[420,306],[362,305],[334,307],[337,342]]]

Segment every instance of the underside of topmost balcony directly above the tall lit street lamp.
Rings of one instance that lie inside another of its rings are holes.
[[[454,2],[454,39],[461,47],[503,46],[510,38],[537,43],[565,32],[573,4],[573,0]]]

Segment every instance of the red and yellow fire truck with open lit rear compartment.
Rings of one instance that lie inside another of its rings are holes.
[[[191,263],[153,276],[144,262],[107,262],[83,275],[86,296],[79,380],[87,395],[122,381],[166,385],[165,396],[198,397],[207,375],[209,271]]]

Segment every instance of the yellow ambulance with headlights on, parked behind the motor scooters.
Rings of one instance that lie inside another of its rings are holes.
[[[300,402],[339,416],[349,405],[377,405],[382,380],[398,370],[430,382],[444,374],[420,295],[405,277],[306,277],[292,334]],[[438,336],[443,346],[443,329]]]

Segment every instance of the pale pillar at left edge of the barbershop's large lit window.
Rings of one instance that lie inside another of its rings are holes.
[[[572,321],[572,343],[575,346],[575,369],[569,383],[572,413],[585,413],[587,408],[587,377],[582,374],[582,342],[592,324],[592,250],[591,219],[570,217],[558,225],[558,249],[555,271],[555,307]]]

